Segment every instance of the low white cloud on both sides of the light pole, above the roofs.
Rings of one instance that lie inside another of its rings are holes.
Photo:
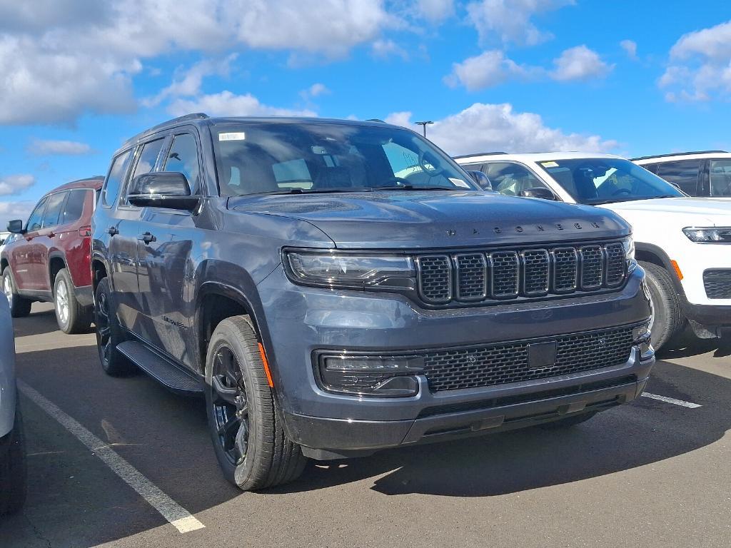
[[[393,113],[386,120],[414,128],[411,113]],[[460,113],[435,121],[427,136],[447,153],[482,151],[610,151],[618,146],[598,135],[564,133],[545,125],[540,115],[515,113],[512,105],[475,103]]]

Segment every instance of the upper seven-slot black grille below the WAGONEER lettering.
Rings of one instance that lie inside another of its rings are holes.
[[[419,295],[429,305],[613,289],[627,273],[621,242],[422,255],[416,264]]]

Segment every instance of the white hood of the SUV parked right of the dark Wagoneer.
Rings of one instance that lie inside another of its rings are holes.
[[[614,202],[600,207],[616,211],[632,224],[642,216],[662,216],[682,227],[731,227],[731,198],[655,198]]]

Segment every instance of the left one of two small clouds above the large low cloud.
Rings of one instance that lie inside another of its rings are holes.
[[[452,73],[444,77],[444,83],[455,88],[463,85],[469,91],[477,91],[506,80],[526,78],[539,72],[539,69],[521,66],[505,56],[501,50],[489,50],[479,56],[466,58],[461,63],[452,64]]]

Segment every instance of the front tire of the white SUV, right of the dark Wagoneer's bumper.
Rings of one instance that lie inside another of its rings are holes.
[[[640,262],[640,265],[645,270],[645,279],[650,289],[652,346],[658,351],[673,335],[685,328],[686,319],[681,311],[681,302],[675,292],[673,279],[667,270],[651,262]]]

